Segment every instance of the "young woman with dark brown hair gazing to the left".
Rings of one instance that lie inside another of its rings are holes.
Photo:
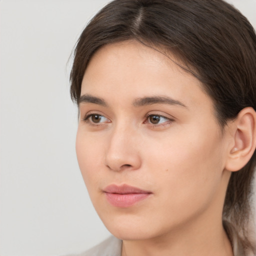
[[[111,237],[82,255],[255,253],[256,35],[222,0],[114,0],[78,39],[76,153]]]

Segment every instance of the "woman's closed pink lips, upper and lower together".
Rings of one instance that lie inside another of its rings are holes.
[[[103,189],[107,201],[116,207],[130,207],[147,198],[152,192],[129,185],[108,185]]]

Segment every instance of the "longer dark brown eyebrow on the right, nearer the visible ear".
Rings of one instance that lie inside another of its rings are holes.
[[[142,97],[137,98],[133,101],[133,106],[144,106],[144,105],[152,105],[152,104],[169,104],[169,105],[179,105],[183,107],[187,107],[179,100],[167,97],[167,96],[152,96],[152,97]]]

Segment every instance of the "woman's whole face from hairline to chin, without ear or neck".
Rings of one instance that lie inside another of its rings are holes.
[[[121,239],[221,218],[225,133],[200,82],[170,58],[113,43],[82,80],[77,159],[98,215]]]

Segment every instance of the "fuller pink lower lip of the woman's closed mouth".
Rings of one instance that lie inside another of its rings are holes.
[[[128,193],[128,194],[118,194],[118,193],[107,193],[105,192],[106,199],[108,202],[116,207],[130,207],[135,203],[147,198],[150,193]]]

